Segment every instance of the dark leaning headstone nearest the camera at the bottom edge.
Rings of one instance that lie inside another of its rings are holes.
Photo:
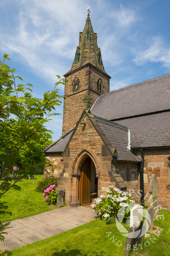
[[[127,234],[126,243],[124,246],[123,256],[128,256],[131,250],[136,250],[137,245],[144,240],[146,226],[143,220],[140,221],[138,227],[132,226]]]

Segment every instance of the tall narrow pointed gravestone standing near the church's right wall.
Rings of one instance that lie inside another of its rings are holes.
[[[159,186],[158,180],[155,174],[152,173],[151,179],[149,182],[149,194],[150,194],[150,207],[153,207],[153,219],[156,220],[156,216],[159,215]]]

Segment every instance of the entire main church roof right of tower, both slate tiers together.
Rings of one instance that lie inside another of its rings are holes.
[[[170,147],[170,75],[100,95],[96,116],[130,129],[131,148]]]

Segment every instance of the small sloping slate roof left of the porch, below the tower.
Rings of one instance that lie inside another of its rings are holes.
[[[63,152],[67,146],[67,143],[74,131],[72,128],[70,131],[61,136],[58,140],[54,141],[52,144],[45,149],[46,153],[54,153],[54,152]]]

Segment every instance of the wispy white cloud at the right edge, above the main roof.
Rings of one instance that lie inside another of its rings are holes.
[[[150,39],[149,46],[145,50],[135,51],[133,61],[137,65],[144,65],[146,62],[161,62],[164,67],[170,68],[170,47],[166,47],[163,38],[155,36]]]

